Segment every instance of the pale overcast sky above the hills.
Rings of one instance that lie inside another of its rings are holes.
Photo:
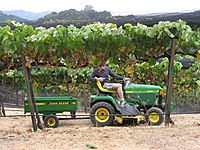
[[[118,15],[200,10],[199,0],[0,0],[0,11],[80,11],[86,5],[95,11],[106,10]]]

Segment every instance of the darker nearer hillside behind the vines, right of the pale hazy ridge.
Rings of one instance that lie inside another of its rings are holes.
[[[69,26],[74,24],[77,27],[99,21],[102,23],[115,23],[118,26],[123,26],[125,23],[136,25],[137,23],[152,26],[159,21],[177,21],[182,19],[189,25],[200,26],[200,10],[193,12],[177,12],[177,13],[164,13],[164,14],[147,14],[147,15],[127,15],[127,16],[112,16],[110,12],[103,11],[97,12],[90,11],[76,11],[75,9],[65,10],[59,13],[52,12],[38,19],[35,26],[51,27],[58,24]]]

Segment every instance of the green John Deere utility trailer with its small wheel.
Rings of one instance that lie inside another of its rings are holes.
[[[35,101],[46,127],[56,128],[59,125],[58,113],[70,112],[71,118],[76,116],[77,99],[74,97],[35,97]],[[24,113],[29,112],[29,99],[26,97]]]

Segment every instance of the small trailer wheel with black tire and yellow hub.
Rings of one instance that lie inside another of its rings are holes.
[[[52,115],[52,114],[47,115],[44,118],[44,125],[47,128],[56,128],[59,125],[59,119],[55,115]]]

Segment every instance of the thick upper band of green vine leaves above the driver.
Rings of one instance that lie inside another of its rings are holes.
[[[0,59],[2,63],[19,62],[25,55],[30,61],[59,64],[79,68],[96,65],[105,60],[112,63],[130,60],[132,55],[143,60],[170,55],[171,39],[177,38],[177,52],[197,56],[200,48],[200,30],[177,22],[159,22],[153,27],[142,24],[90,24],[77,28],[33,28],[9,21],[0,27]]]

